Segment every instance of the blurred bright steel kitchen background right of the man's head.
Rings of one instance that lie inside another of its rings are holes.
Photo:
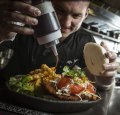
[[[89,16],[82,24],[84,30],[92,33],[98,44],[107,43],[109,49],[118,55],[120,63],[120,0],[93,0]],[[120,68],[118,68],[120,72]]]

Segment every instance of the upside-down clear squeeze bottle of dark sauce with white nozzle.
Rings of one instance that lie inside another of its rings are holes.
[[[34,26],[35,38],[40,45],[45,44],[47,48],[50,47],[54,55],[58,56],[56,44],[59,43],[58,39],[62,37],[62,34],[52,3],[50,0],[33,0],[32,4],[41,11],[38,25]]]

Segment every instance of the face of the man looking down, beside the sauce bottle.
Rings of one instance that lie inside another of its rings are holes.
[[[89,1],[52,0],[62,32],[62,40],[77,31],[88,14]]]

